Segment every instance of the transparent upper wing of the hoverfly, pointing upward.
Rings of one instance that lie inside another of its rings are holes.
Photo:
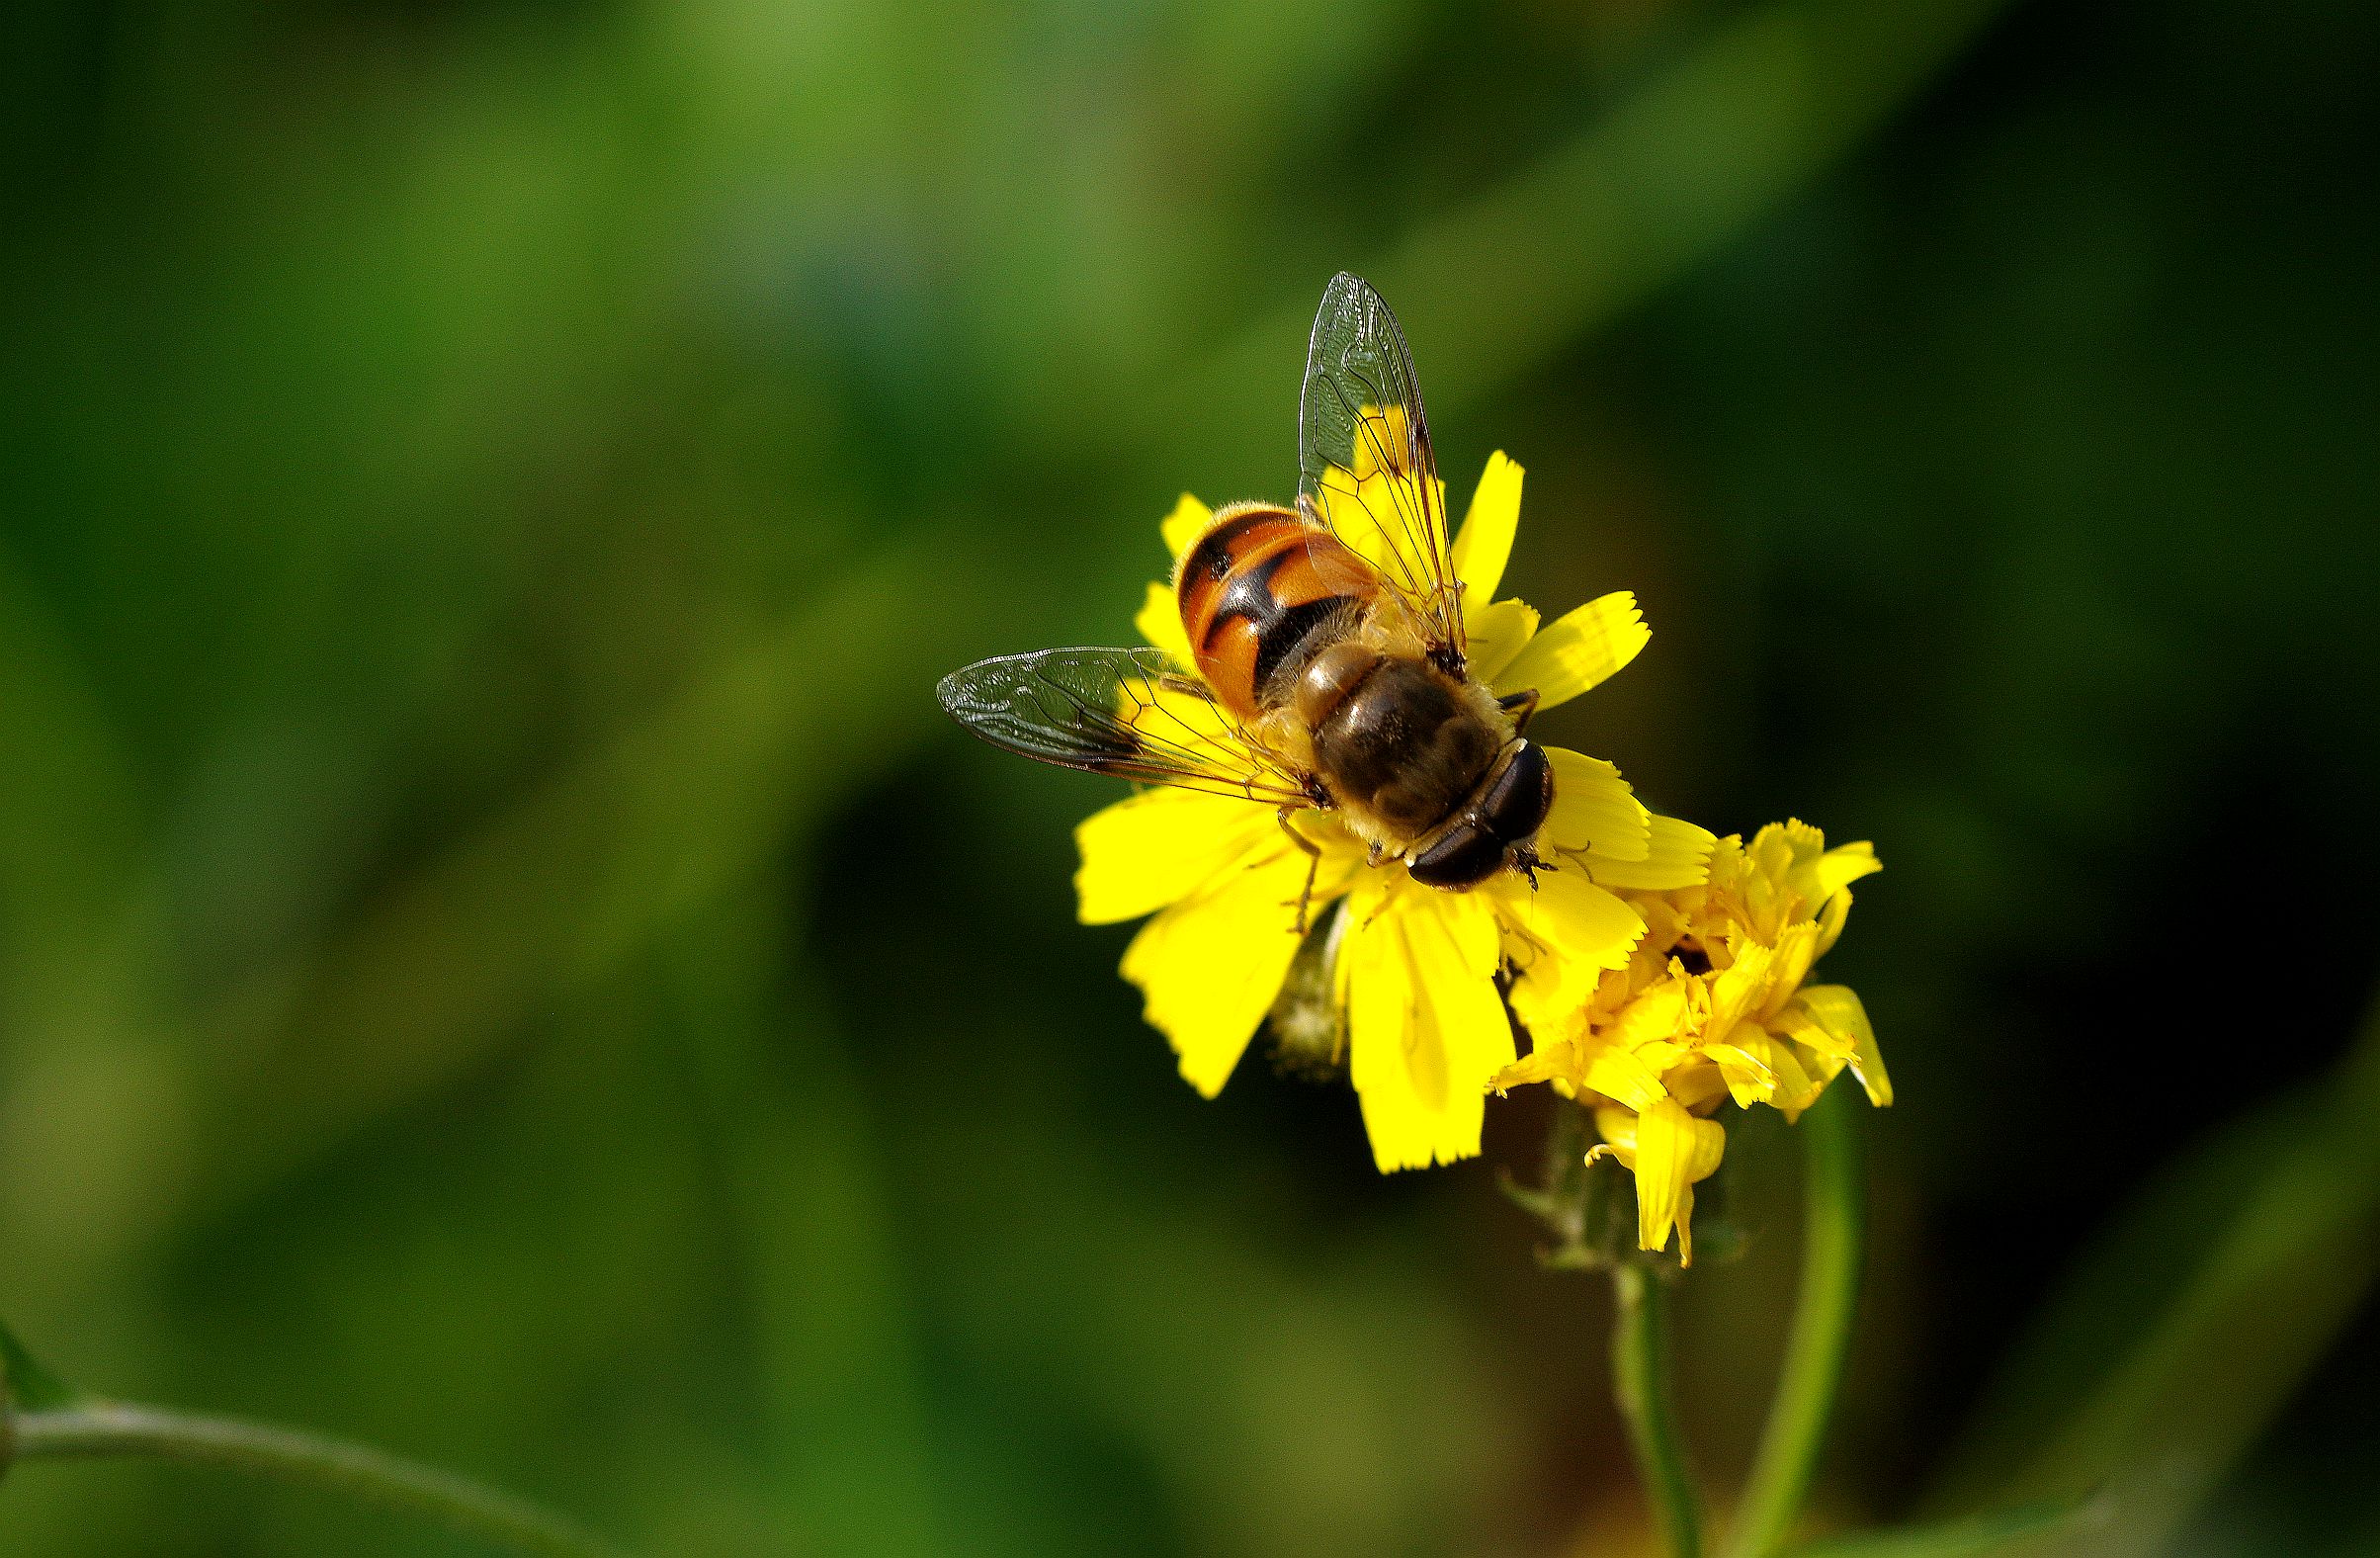
[[[1380,293],[1347,272],[1330,279],[1314,314],[1297,472],[1307,515],[1380,569],[1421,619],[1433,658],[1459,672],[1464,607],[1414,353]]]

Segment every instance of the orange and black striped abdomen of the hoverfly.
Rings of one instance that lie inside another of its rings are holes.
[[[1380,574],[1338,536],[1269,505],[1223,510],[1173,579],[1197,669],[1240,717],[1276,703],[1378,588]]]

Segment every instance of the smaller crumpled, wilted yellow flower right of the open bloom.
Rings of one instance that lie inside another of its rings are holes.
[[[1628,967],[1602,972],[1583,1001],[1514,984],[1514,1012],[1535,1053],[1495,1086],[1552,1082],[1595,1108],[1611,1155],[1635,1174],[1637,1246],[1678,1234],[1695,1258],[1695,1184],[1726,1153],[1726,1105],[1766,1103],[1797,1117],[1849,1070],[1878,1105],[1892,1079],[1868,1015],[1842,984],[1806,984],[1842,936],[1852,881],[1883,865],[1866,843],[1825,848],[1804,822],[1773,822],[1747,846],[1711,850],[1709,879],[1680,891],[1626,891],[1647,924]]]

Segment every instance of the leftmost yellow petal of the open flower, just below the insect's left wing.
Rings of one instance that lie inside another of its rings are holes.
[[[1238,870],[1252,850],[1292,848],[1273,812],[1235,796],[1142,791],[1073,829],[1083,924],[1140,920]]]

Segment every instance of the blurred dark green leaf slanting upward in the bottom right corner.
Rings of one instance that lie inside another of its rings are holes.
[[[2109,1527],[2042,1553],[2166,1551],[2380,1284],[2375,1113],[2380,1008],[2328,1077],[2221,1132],[2111,1229],[1942,1496],[2104,1489]]]

